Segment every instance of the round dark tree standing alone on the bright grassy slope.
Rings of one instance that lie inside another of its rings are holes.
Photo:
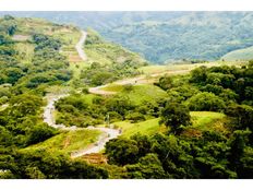
[[[184,105],[178,103],[167,104],[161,110],[161,120],[167,127],[171,127],[174,134],[179,134],[182,126],[191,123],[190,110]]]

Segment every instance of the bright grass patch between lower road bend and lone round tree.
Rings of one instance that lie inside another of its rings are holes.
[[[130,121],[115,122],[116,126],[122,129],[122,136],[130,138],[133,134],[155,134],[166,131],[165,127],[159,126],[159,118],[148,119],[146,121],[131,123]]]

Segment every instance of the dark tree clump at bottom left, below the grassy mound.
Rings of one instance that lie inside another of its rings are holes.
[[[15,179],[106,179],[108,173],[81,161],[71,161],[59,152],[41,149],[14,152],[9,156],[5,169]],[[7,161],[5,161],[7,162]],[[1,162],[0,162],[1,163]]]

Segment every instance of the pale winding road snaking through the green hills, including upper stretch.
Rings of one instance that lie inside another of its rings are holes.
[[[87,59],[87,57],[83,50],[83,44],[85,43],[86,36],[87,36],[87,33],[82,31],[82,37],[80,38],[80,41],[75,46],[80,57],[83,60]],[[48,126],[51,126],[53,128],[61,129],[61,130],[83,130],[83,128],[77,128],[75,126],[65,127],[64,124],[57,124],[56,123],[56,118],[55,118],[56,106],[55,106],[55,104],[60,98],[63,98],[67,96],[69,96],[69,94],[51,94],[51,95],[46,96],[47,106],[44,108],[44,114],[43,114],[44,122],[46,122]],[[88,147],[75,151],[74,153],[71,154],[72,158],[80,157],[80,156],[83,156],[86,154],[99,153],[101,150],[105,149],[105,145],[108,141],[120,135],[120,130],[117,130],[117,129],[95,128],[95,127],[88,127],[87,129],[101,131],[101,134],[98,138],[98,141],[95,142],[94,144],[91,144]]]

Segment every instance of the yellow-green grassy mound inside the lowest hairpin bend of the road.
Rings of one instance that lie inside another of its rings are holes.
[[[98,140],[98,130],[82,129],[76,131],[62,131],[41,143],[26,147],[25,150],[43,149],[50,152],[61,152],[70,154],[73,151],[87,147],[91,143]]]

